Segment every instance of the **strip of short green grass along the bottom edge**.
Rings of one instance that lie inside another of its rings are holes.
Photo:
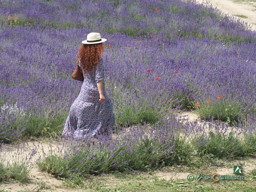
[[[66,187],[66,186],[65,186]],[[188,180],[165,180],[146,173],[113,173],[102,176],[90,176],[84,179],[84,185],[77,190],[83,192],[253,192],[255,181],[211,181],[189,182]]]

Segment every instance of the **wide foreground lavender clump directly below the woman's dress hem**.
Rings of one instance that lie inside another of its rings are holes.
[[[111,171],[158,168],[172,156],[172,128],[132,126],[112,138],[100,137],[94,144],[60,141],[60,146],[45,153],[39,167],[53,175],[99,174]],[[82,162],[82,163],[81,163]]]

